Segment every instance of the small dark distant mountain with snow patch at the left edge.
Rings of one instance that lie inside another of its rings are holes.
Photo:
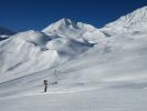
[[[9,38],[10,36],[13,36],[14,33],[15,32],[13,32],[7,28],[0,27],[0,41]]]

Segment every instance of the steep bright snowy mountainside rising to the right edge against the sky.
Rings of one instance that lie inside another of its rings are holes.
[[[114,33],[139,33],[147,30],[147,7],[143,7],[111,22],[103,30]]]

